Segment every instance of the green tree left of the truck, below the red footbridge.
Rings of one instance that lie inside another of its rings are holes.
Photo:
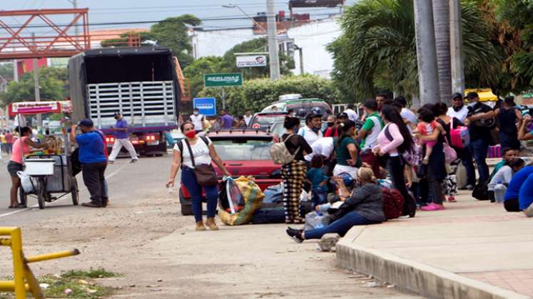
[[[68,95],[68,73],[66,68],[39,69],[39,93],[41,100],[63,100]],[[11,81],[7,91],[0,94],[0,100],[7,105],[13,102],[35,100],[34,73],[26,73],[19,82]]]

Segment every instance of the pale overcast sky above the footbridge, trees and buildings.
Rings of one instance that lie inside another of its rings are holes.
[[[288,1],[274,0],[276,11],[288,11]],[[347,4],[353,4],[357,0],[347,0]],[[72,7],[68,0],[0,0],[0,9],[66,9]],[[134,21],[158,21],[170,16],[181,14],[194,14],[200,19],[213,17],[243,17],[238,9],[223,8],[223,5],[236,4],[250,16],[258,12],[266,11],[266,0],[78,0],[78,7],[89,9],[89,23],[91,30],[98,28],[148,28],[151,23],[105,25],[96,26],[96,23],[108,22],[134,22]],[[323,19],[338,9],[310,8],[295,9],[295,13],[310,13],[313,19]],[[22,23],[24,18],[2,18],[8,24]],[[65,23],[68,18],[54,19],[56,23]],[[33,24],[37,24],[35,22]],[[226,26],[250,26],[250,21],[243,19],[238,21],[203,21],[205,28],[219,28]],[[44,34],[49,28],[32,28],[36,34]],[[4,31],[5,32],[5,31]],[[4,35],[0,29],[0,35]]]

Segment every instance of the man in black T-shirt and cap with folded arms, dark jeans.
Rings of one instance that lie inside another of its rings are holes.
[[[479,102],[477,93],[468,93],[467,98],[473,104],[468,108],[467,117],[467,123],[469,123],[468,131],[470,133],[469,147],[476,160],[479,182],[488,182],[489,166],[485,160],[487,159],[489,140],[491,140],[491,124],[493,124],[490,120],[494,118],[494,111],[489,105]]]

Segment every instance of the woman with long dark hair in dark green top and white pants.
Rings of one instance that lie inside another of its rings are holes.
[[[337,164],[333,169],[333,175],[347,173],[355,179],[357,177],[357,169],[362,164],[357,142],[353,139],[355,136],[355,122],[346,120],[341,125],[341,128],[340,135],[335,141]]]

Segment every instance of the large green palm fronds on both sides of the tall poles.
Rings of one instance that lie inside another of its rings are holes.
[[[496,78],[499,55],[477,6],[463,2],[465,73],[477,76],[479,86],[487,85]],[[420,96],[412,0],[360,0],[346,9],[341,26],[342,35],[328,50],[344,103],[362,101],[377,90]]]

